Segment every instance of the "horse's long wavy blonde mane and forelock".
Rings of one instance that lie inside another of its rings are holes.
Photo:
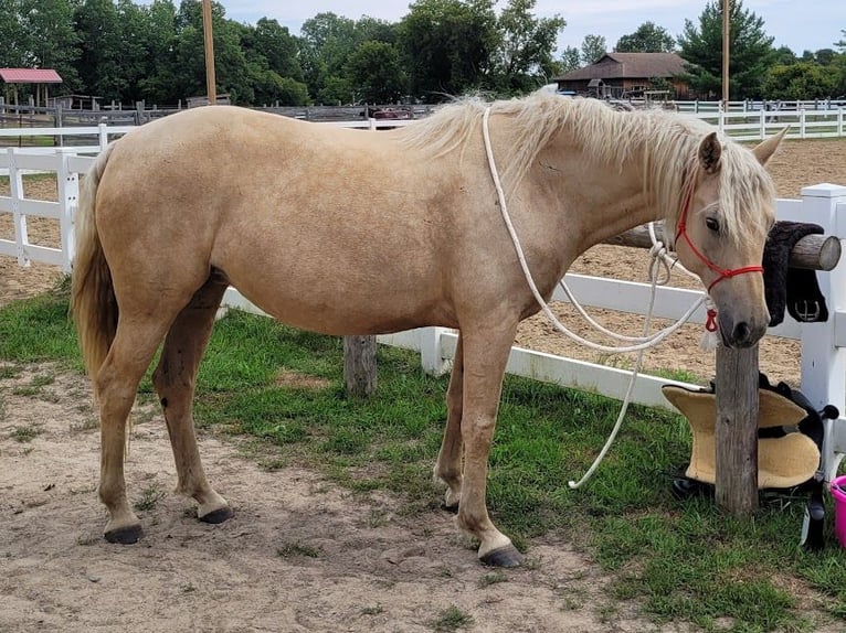
[[[596,99],[535,93],[494,103],[459,99],[398,130],[399,137],[409,147],[433,157],[463,153],[469,143],[483,142],[482,118],[488,107],[491,120],[504,115],[507,121],[503,124],[500,117],[500,122],[493,125],[508,125],[515,131],[508,162],[499,165],[506,191],[516,187],[553,137],[569,131],[584,152],[617,171],[631,161],[645,165],[646,200],[662,210],[668,226],[678,222],[683,191],[686,179],[694,173],[699,144],[713,131],[697,118],[666,110],[615,111]],[[757,211],[761,197],[772,200],[775,191],[752,152],[725,137],[720,141],[723,151],[718,211],[726,236],[742,243],[751,234],[760,235],[769,228],[772,217]]]

